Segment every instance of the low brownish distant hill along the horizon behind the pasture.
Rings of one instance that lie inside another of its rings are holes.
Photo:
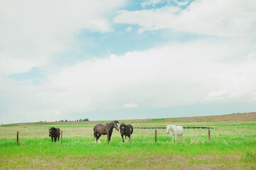
[[[75,125],[75,124],[105,124],[110,120],[105,121],[87,121],[87,122],[42,122],[42,123],[14,123],[2,126],[12,125]],[[145,123],[145,122],[238,122],[238,121],[256,121],[256,112],[252,113],[233,113],[229,115],[208,115],[208,116],[193,116],[182,118],[156,118],[156,119],[137,119],[137,120],[119,120],[122,123]]]

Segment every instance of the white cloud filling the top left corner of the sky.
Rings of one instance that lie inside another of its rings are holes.
[[[67,49],[81,29],[110,30],[107,13],[124,1],[0,1],[0,74],[27,72]]]

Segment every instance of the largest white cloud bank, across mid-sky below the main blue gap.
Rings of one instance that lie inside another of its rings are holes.
[[[80,62],[49,75],[48,84],[63,89],[53,94],[54,101],[87,110],[117,109],[130,101],[142,108],[189,106],[224,94],[239,100],[252,92],[245,99],[250,101],[256,59],[235,59],[241,50],[250,53],[248,49],[229,41],[165,45]]]

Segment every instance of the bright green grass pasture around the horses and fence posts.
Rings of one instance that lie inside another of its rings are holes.
[[[183,140],[173,144],[166,129],[134,129],[132,140],[122,142],[114,129],[111,142],[93,127],[102,122],[20,123],[0,126],[0,169],[256,169],[256,121],[189,121],[171,119],[119,120],[134,127],[166,125],[206,126],[184,129]],[[63,143],[51,142],[48,129],[63,130]],[[16,144],[16,132],[19,144]]]

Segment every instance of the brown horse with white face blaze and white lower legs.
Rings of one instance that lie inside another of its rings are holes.
[[[117,120],[114,120],[110,123],[106,123],[106,125],[102,125],[102,124],[95,125],[95,128],[93,128],[94,136],[95,136],[95,143],[96,142],[100,143],[100,136],[107,135],[107,132],[109,133],[108,140],[110,141],[110,137],[112,135],[113,128],[116,128],[117,131],[119,131],[118,124],[119,124],[119,122]]]

